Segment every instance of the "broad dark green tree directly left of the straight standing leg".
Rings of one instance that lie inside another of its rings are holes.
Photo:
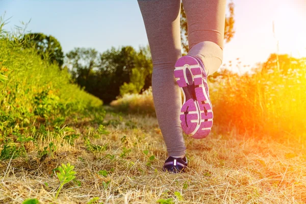
[[[140,47],[139,52],[131,46],[117,50],[112,47],[101,55],[99,72],[101,78],[107,76],[106,80],[110,80],[100,95],[106,103],[118,95],[139,93],[151,85],[152,62],[148,46]]]

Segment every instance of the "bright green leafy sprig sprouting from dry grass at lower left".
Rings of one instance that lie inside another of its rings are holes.
[[[75,174],[77,172],[73,171],[74,166],[70,165],[69,163],[67,165],[62,164],[62,166],[58,167],[58,170],[60,171],[59,173],[57,173],[57,176],[60,180],[60,187],[56,193],[55,199],[57,199],[61,189],[63,188],[63,186],[67,183],[69,183],[70,181],[72,181],[73,179],[75,179]]]

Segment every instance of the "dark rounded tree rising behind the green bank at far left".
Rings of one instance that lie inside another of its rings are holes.
[[[64,62],[64,54],[60,42],[52,35],[43,33],[29,33],[23,37],[23,45],[25,47],[35,46],[38,55],[42,59],[48,59],[50,63],[57,63],[62,67]]]

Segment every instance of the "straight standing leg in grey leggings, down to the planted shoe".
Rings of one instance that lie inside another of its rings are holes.
[[[182,98],[173,71],[182,57],[181,0],[138,0],[153,61],[152,92],[169,156],[185,155],[180,110]]]

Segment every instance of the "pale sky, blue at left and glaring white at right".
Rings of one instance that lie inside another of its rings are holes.
[[[275,21],[279,53],[306,57],[305,0],[234,0],[236,34],[225,44],[227,63],[263,62],[276,52],[272,33]],[[31,19],[27,30],[55,36],[66,53],[74,47],[93,47],[99,52],[122,45],[146,45],[147,37],[136,0],[15,1],[0,0],[0,15],[12,17],[6,30]]]

